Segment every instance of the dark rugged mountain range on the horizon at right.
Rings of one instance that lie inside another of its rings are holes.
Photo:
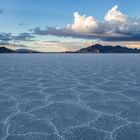
[[[69,52],[67,52],[69,53]],[[103,46],[95,44],[87,48],[80,49],[73,53],[140,53],[140,49],[132,49],[122,46]]]

